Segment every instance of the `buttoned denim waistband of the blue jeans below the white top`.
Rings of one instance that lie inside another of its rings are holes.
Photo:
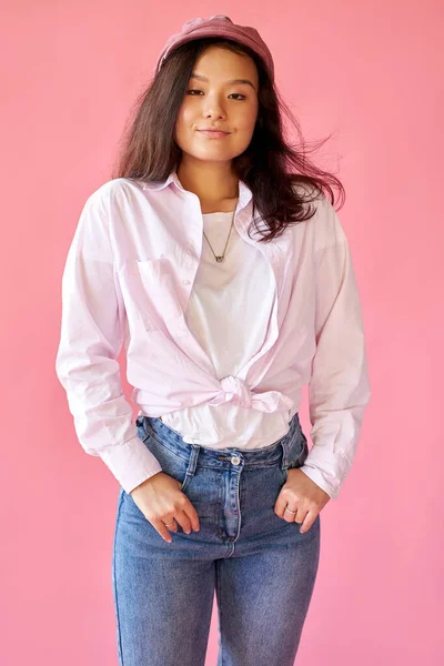
[[[182,436],[171,430],[161,418],[157,416],[138,416],[135,421],[138,427],[143,427],[147,436],[153,437],[162,446],[169,448],[176,456],[188,461],[190,452],[194,450],[194,455],[199,455],[201,464],[208,466],[230,466],[233,456],[240,458],[243,466],[268,465],[281,461],[286,467],[291,461],[296,460],[304,446],[306,437],[302,432],[299,413],[296,412],[289,423],[289,432],[276,442],[261,448],[240,448],[230,446],[226,448],[209,448],[201,444],[189,444]]]

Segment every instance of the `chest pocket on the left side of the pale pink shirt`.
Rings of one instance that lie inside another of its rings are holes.
[[[132,259],[123,266],[131,305],[147,331],[167,327],[184,331],[184,316],[175,286],[173,266],[168,258]]]

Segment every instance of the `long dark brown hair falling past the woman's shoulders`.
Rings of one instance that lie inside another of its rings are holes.
[[[259,230],[263,235],[260,240],[270,241],[289,224],[311,219],[315,210],[307,209],[306,204],[319,195],[326,196],[329,193],[334,205],[332,185],[339,189],[343,205],[343,185],[335,175],[322,171],[309,160],[307,153],[312,151],[306,148],[299,122],[280,98],[262,60],[248,47],[222,38],[188,42],[165,59],[149,88],[135,100],[111,178],[163,181],[172,170],[179,168],[182,150],[173,139],[176,117],[194,63],[212,44],[250,56],[258,68],[256,125],[250,145],[242,154],[233,158],[232,169],[252,191],[253,223],[256,223],[254,211],[258,210],[265,225],[265,232],[263,229]],[[300,139],[297,145],[284,139],[282,113],[285,113],[296,130]],[[325,141],[326,139],[320,145]],[[317,148],[315,144],[312,150]]]

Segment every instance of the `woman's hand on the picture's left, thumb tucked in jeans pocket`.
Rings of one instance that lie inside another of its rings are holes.
[[[164,472],[158,472],[130,493],[147,521],[169,543],[172,542],[169,529],[178,532],[178,525],[174,523],[165,527],[165,523],[175,519],[186,534],[190,534],[191,527],[195,532],[200,529],[198,512],[180,490],[181,486],[176,478]]]

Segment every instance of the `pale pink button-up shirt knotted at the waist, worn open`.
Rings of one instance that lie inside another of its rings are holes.
[[[80,444],[128,493],[161,466],[122,393],[122,344],[132,402],[150,416],[203,402],[294,413],[309,384],[313,446],[301,471],[337,497],[371,390],[347,240],[325,196],[312,205],[311,220],[260,243],[239,182],[234,226],[270,262],[276,296],[262,347],[218,379],[184,316],[202,252],[199,198],[174,171],[157,183],[114,179],[88,198],[63,271],[56,371]]]

